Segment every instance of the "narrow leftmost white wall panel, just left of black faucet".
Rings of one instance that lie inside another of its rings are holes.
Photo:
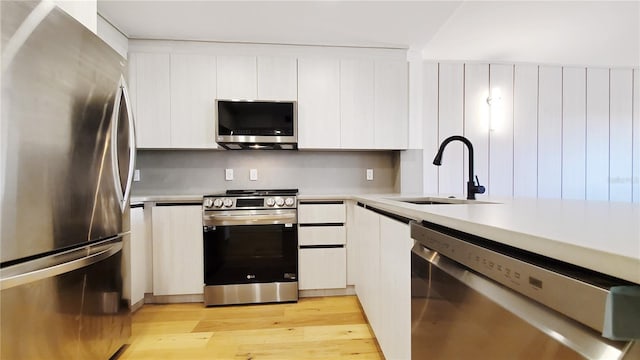
[[[423,185],[425,194],[438,193],[438,167],[433,157],[438,151],[438,68],[437,63],[422,64],[422,141]]]

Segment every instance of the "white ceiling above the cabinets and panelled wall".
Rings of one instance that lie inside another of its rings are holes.
[[[640,1],[98,0],[135,39],[406,48],[431,60],[640,65]]]

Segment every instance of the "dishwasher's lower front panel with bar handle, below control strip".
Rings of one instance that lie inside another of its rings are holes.
[[[412,249],[412,359],[619,359],[626,345],[420,243]]]

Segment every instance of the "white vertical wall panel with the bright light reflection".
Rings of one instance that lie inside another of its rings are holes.
[[[489,193],[513,196],[513,65],[490,65]],[[495,99],[495,91],[502,99]]]

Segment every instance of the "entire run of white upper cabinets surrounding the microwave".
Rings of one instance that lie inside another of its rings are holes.
[[[138,147],[215,149],[215,100],[244,99],[297,101],[300,149],[407,148],[400,52],[280,47],[129,41]]]

